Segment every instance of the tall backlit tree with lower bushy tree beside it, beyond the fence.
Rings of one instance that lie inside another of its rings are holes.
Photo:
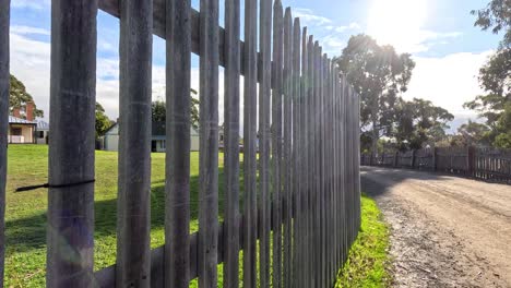
[[[360,95],[360,144],[366,152],[383,146],[416,149],[445,136],[453,116],[431,101],[405,100],[415,62],[368,35],[352,36],[336,63]]]

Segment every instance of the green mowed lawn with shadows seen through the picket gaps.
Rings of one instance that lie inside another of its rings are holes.
[[[37,189],[19,193],[14,190],[48,181],[48,146],[10,145],[8,157],[5,287],[44,287],[48,190]],[[240,158],[242,159],[242,155]],[[199,153],[191,154],[190,163],[192,202],[190,230],[194,232],[199,229]],[[219,217],[222,217],[224,207],[223,154],[219,155],[218,163],[218,208]],[[95,269],[107,267],[116,262],[117,168],[117,153],[96,152]],[[151,181],[151,245],[156,248],[165,243],[164,153],[152,154]],[[242,178],[240,178],[240,189],[242,190]],[[222,281],[222,273],[218,276]]]

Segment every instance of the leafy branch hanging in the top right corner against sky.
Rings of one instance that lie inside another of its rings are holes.
[[[471,12],[477,16],[474,26],[479,26],[483,31],[491,29],[494,34],[504,32],[501,47],[511,46],[511,1],[491,0],[486,8]]]

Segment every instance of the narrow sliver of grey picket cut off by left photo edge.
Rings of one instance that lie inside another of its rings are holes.
[[[10,0],[0,0],[0,135],[9,129],[9,20]],[[0,136],[0,288],[3,287],[5,251],[5,182],[8,139]]]

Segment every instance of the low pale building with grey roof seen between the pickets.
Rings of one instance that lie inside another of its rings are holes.
[[[151,151],[165,152],[166,136],[165,122],[153,122],[151,135]],[[190,130],[190,151],[199,151],[199,132]],[[119,151],[119,123],[115,123],[103,136],[103,147],[105,151]]]

